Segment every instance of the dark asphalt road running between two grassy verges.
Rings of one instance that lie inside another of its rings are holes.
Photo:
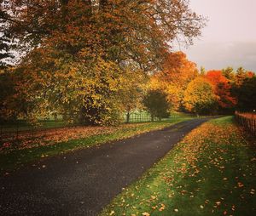
[[[0,177],[0,215],[97,215],[173,145],[208,119],[45,158]]]

